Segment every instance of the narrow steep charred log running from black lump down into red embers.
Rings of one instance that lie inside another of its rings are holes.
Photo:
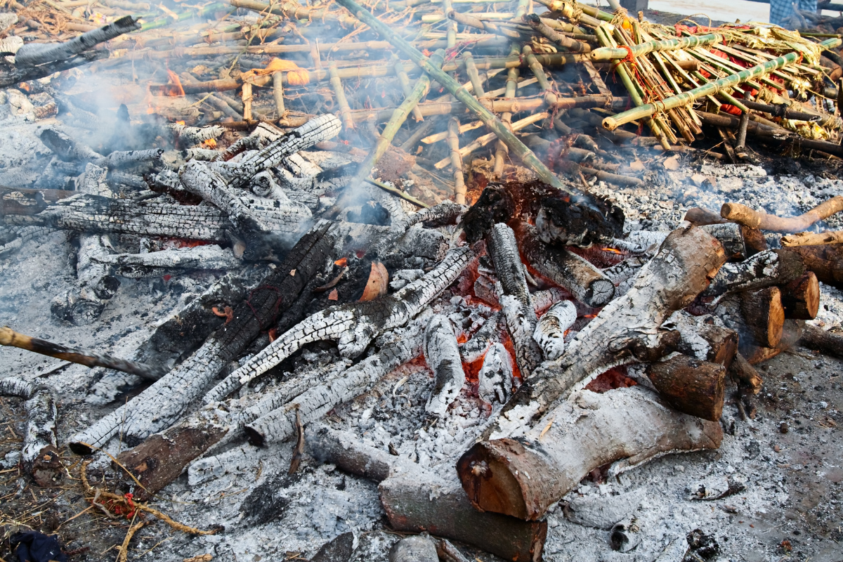
[[[524,264],[518,255],[513,229],[497,223],[486,234],[486,246],[495,265],[497,280],[501,283],[502,294],[498,297],[515,345],[515,361],[524,376],[529,377],[541,362],[539,345],[533,339],[538,318],[529,296]]]

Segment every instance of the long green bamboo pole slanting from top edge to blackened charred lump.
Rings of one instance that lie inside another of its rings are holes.
[[[392,29],[389,29],[388,25],[375,18],[368,12],[368,10],[363,9],[359,4],[354,2],[354,0],[337,0],[337,3],[344,8],[347,8],[352,14],[354,14],[355,17],[357,17],[357,19],[360,19],[360,21],[377,31],[379,35],[384,37],[384,39],[389,40],[389,42],[404,52],[405,55],[409,56],[418,67],[420,67],[424,72],[427,72],[431,78],[442,84],[443,87],[453,94],[456,99],[459,99],[459,101],[465,104],[467,108],[474,111],[475,114],[477,114],[477,116],[483,121],[484,125],[489,127],[489,129],[493,131],[498,138],[505,142],[507,147],[513,151],[515,156],[520,158],[526,167],[532,169],[542,181],[548,185],[556,187],[558,190],[565,191],[569,195],[576,197],[577,200],[583,200],[586,197],[586,195],[581,191],[574,190],[569,185],[564,184],[561,179],[556,177],[556,174],[551,172],[550,169],[548,169],[547,166],[545,166],[545,164],[536,157],[533,151],[524,145],[524,142],[521,142],[512,131],[507,129],[497,116],[483,107],[483,105],[477,101],[474,96],[466,92],[464,88],[460,88],[459,83],[454,80],[454,78],[448,76],[447,72],[443,72],[441,68],[432,65],[427,56],[422,55],[421,52],[414,46],[395,35],[395,33],[392,32]],[[590,203],[590,201],[588,202]]]

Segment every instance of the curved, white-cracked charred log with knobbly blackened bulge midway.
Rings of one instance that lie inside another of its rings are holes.
[[[222,399],[314,341],[336,340],[342,356],[359,356],[375,337],[406,324],[420,313],[456,280],[472,259],[474,252],[470,249],[453,249],[426,276],[400,291],[372,301],[325,308],[305,318],[217,384],[207,394],[206,402]]]

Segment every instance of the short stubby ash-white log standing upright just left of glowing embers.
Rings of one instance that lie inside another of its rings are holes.
[[[424,358],[433,372],[433,388],[425,409],[443,417],[459,397],[465,383],[463,363],[457,349],[457,336],[448,317],[438,314],[427,323],[424,333]]]

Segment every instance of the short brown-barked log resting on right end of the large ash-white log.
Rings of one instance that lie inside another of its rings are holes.
[[[717,421],[723,412],[726,367],[676,354],[647,367],[647,377],[665,402],[683,414]]]

